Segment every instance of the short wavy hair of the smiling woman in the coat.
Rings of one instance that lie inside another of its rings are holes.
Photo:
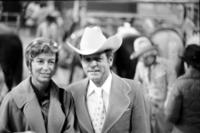
[[[56,42],[46,38],[36,38],[27,47],[25,51],[26,65],[29,67],[33,59],[42,53],[51,53],[56,55],[58,62],[59,47]]]

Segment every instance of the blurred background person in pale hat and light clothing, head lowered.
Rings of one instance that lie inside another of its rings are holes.
[[[164,119],[163,105],[173,79],[167,61],[157,57],[158,49],[146,37],[134,42],[131,59],[139,57],[134,79],[145,86],[145,95],[151,104],[152,133],[169,133],[170,125]]]

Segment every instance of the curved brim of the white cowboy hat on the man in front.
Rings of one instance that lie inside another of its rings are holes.
[[[91,54],[99,53],[108,49],[115,52],[120,48],[121,44],[122,44],[122,37],[119,35],[114,35],[114,36],[109,37],[102,45],[100,45],[99,47],[95,49],[82,50],[75,47],[73,44],[67,42],[67,45],[80,55],[91,55]]]

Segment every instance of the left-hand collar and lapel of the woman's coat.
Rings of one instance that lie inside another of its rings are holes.
[[[24,115],[30,126],[30,129],[37,133],[46,133],[44,120],[42,117],[41,109],[37,101],[36,95],[29,82],[30,78],[27,78],[20,83],[12,93],[14,100],[19,108],[24,106]]]

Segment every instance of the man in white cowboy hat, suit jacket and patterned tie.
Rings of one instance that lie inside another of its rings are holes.
[[[141,86],[111,71],[113,54],[121,44],[119,35],[106,38],[98,26],[85,28],[80,49],[68,43],[80,55],[87,75],[67,88],[74,97],[82,133],[149,132]]]

